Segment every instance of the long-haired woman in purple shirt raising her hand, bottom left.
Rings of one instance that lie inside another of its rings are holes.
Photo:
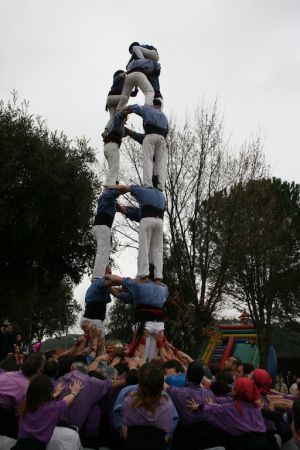
[[[70,386],[70,392],[62,400],[55,401],[64,386],[58,384],[53,392],[51,379],[47,375],[33,378],[26,400],[20,406],[18,441],[13,449],[46,449],[54,428],[83,387],[81,381],[76,380]]]

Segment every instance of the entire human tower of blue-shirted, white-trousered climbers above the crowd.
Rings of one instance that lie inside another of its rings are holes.
[[[168,288],[162,282],[168,119],[162,112],[161,67],[157,49],[133,42],[129,52],[131,57],[126,71],[117,70],[113,75],[106,103],[110,118],[102,133],[108,171],[92,228],[97,252],[81,321],[90,344],[90,361],[105,351],[104,320],[111,293],[120,301],[131,304],[135,310],[129,354],[139,351],[144,361],[151,360],[164,337],[163,306],[168,297]],[[136,96],[138,89],[144,94],[144,105],[128,105],[129,97]],[[136,133],[125,126],[129,114],[142,117],[144,133]],[[127,136],[142,146],[142,185],[119,183],[120,146]],[[118,203],[118,197],[126,193],[135,198],[139,207]],[[139,222],[135,279],[113,275],[109,266],[111,227],[116,212]]]

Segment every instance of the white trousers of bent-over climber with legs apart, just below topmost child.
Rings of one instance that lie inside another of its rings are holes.
[[[146,75],[142,72],[131,72],[126,76],[117,111],[122,111],[127,105],[133,88],[137,86],[145,96],[145,106],[153,106],[154,90]]]

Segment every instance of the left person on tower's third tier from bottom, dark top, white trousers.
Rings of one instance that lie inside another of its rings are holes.
[[[113,117],[106,133],[103,133],[103,150],[108,164],[105,183],[108,185],[119,183],[120,146],[125,136],[124,124],[127,115],[118,112]]]

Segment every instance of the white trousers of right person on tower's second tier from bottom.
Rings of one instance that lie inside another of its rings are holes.
[[[140,221],[137,274],[139,278],[149,275],[149,263],[154,266],[154,278],[162,279],[163,220],[158,217],[144,217]]]

